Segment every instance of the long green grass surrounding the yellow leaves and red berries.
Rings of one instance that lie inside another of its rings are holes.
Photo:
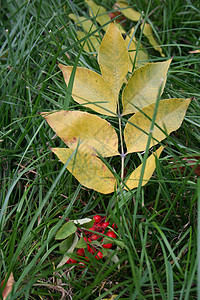
[[[102,3],[112,11],[114,1]],[[189,52],[199,49],[200,5],[183,0],[152,1],[149,7],[145,0],[134,3],[144,14],[149,9],[166,58],[173,56],[162,98],[194,99],[181,128],[163,142],[165,150],[149,183],[118,195],[94,192],[72,177],[49,149],[64,144],[39,115],[82,109],[66,93],[57,62],[99,71],[94,55],[80,53],[76,26],[68,18],[69,13],[88,16],[84,2],[1,3],[0,281],[13,272],[10,299],[197,299],[200,294],[200,189],[198,176],[184,160],[200,157],[200,54]],[[135,24],[127,21],[126,29]],[[143,45],[152,62],[162,60],[147,40]],[[129,155],[125,165],[132,170],[139,162],[139,155]],[[119,174],[115,158],[111,165]],[[65,218],[95,214],[117,224],[126,245],[116,251],[119,262],[92,259],[95,272],[90,264],[78,272],[71,266],[57,270],[62,254],[54,238]]]

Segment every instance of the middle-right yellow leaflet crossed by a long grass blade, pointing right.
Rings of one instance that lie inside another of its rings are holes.
[[[165,139],[167,135],[181,126],[190,101],[191,99],[176,98],[160,101],[150,147]],[[152,119],[154,108],[155,103],[143,108],[142,112]],[[127,153],[146,150],[151,120],[149,120],[142,112],[137,112],[126,124],[124,140],[127,147]],[[162,132],[156,124],[162,128],[165,133]]]

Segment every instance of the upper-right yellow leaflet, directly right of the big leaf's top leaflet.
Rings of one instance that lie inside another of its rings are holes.
[[[123,115],[136,113],[136,107],[142,109],[156,102],[161,83],[161,93],[164,90],[170,63],[171,59],[148,63],[133,72],[122,94]]]

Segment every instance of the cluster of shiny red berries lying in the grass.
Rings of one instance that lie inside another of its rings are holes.
[[[113,223],[112,226],[110,226],[110,222],[106,221],[106,217],[101,217],[99,215],[94,216],[93,219],[94,219],[94,224],[90,229],[84,231],[83,239],[87,244],[87,251],[93,254],[95,256],[95,259],[102,259],[103,253],[102,251],[100,251],[101,248],[110,249],[113,247],[113,244],[111,242],[104,243],[104,237],[102,235],[99,235],[98,233],[105,234],[106,236],[115,239],[117,237],[116,234],[114,233],[114,231],[112,231],[109,228],[111,227],[114,230],[117,230],[117,225]],[[108,226],[109,228],[107,228]],[[91,231],[95,231],[95,233]],[[98,246],[95,245],[94,241],[99,242]],[[76,254],[78,256],[81,256],[82,259],[84,259],[85,261],[89,261],[89,258],[86,256],[84,248],[79,248]],[[74,263],[77,263],[77,260],[73,258],[70,258],[67,261],[67,264],[74,264]],[[84,263],[81,262],[81,264]]]

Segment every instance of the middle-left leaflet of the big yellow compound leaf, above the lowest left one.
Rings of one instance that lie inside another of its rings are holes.
[[[71,149],[103,157],[118,155],[118,137],[106,120],[81,111],[43,113],[56,134]]]

